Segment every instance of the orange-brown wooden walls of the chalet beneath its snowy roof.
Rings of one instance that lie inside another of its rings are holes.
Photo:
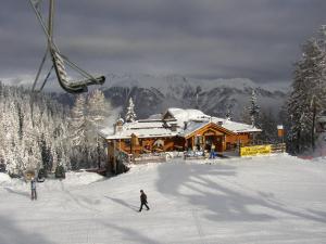
[[[114,169],[116,165],[114,151],[138,156],[146,153],[186,151],[197,147],[210,150],[213,143],[216,152],[224,152],[235,150],[239,145],[248,145],[251,140],[249,132],[235,133],[211,123],[184,137],[138,138],[136,134],[131,134],[129,139],[108,140],[108,157],[111,167]]]

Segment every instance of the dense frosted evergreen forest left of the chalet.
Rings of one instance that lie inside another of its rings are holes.
[[[0,164],[10,175],[40,168],[50,172],[58,166],[89,168],[104,159],[104,145],[96,130],[109,106],[100,91],[80,98],[84,107],[77,108],[78,97],[71,111],[46,93],[0,82]],[[83,113],[83,125],[78,113]]]

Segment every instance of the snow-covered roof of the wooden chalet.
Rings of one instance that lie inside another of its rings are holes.
[[[170,116],[172,117],[170,117]],[[164,118],[168,117],[166,120]],[[187,127],[185,129],[185,123]],[[183,110],[183,108],[168,108],[161,118],[158,115],[151,116],[149,119],[126,123],[123,125],[121,131],[114,133],[113,129],[103,129],[100,134],[105,139],[127,139],[131,134],[138,138],[151,137],[187,137],[191,132],[214,123],[235,133],[241,132],[260,132],[261,129],[252,127],[251,125],[231,121],[229,119],[211,117],[199,110]],[[177,127],[172,130],[173,125]]]

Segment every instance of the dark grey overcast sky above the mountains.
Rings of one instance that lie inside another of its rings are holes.
[[[43,4],[48,1],[43,0]],[[55,43],[97,74],[289,82],[325,0],[57,0]],[[34,75],[46,49],[28,0],[0,8],[0,79]]]

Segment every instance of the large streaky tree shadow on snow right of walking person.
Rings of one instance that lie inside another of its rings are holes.
[[[273,220],[277,218],[275,215],[264,213],[273,210],[305,220],[326,222],[325,213],[291,209],[290,206],[275,200],[273,193],[252,190],[246,193],[247,189],[241,189],[241,185],[236,183],[237,168],[234,166],[162,164],[158,170],[156,188],[161,193],[186,200],[191,205],[210,210],[212,214],[206,215],[206,218],[213,221]]]

